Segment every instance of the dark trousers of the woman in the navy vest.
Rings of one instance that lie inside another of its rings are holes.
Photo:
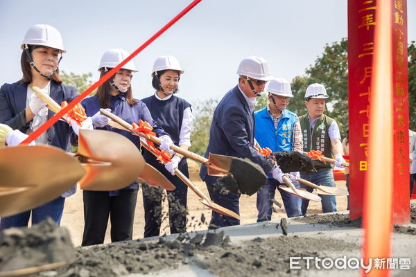
[[[145,157],[146,158],[146,157]],[[169,225],[171,233],[184,233],[187,231],[187,193],[188,186],[177,176],[171,175],[164,166],[157,161],[148,161],[151,166],[172,182],[175,190],[167,191],[169,205]],[[182,159],[178,169],[189,177],[187,159]],[[148,186],[144,184],[143,205],[144,205],[144,238],[159,235],[160,224],[162,223],[162,188]]]

